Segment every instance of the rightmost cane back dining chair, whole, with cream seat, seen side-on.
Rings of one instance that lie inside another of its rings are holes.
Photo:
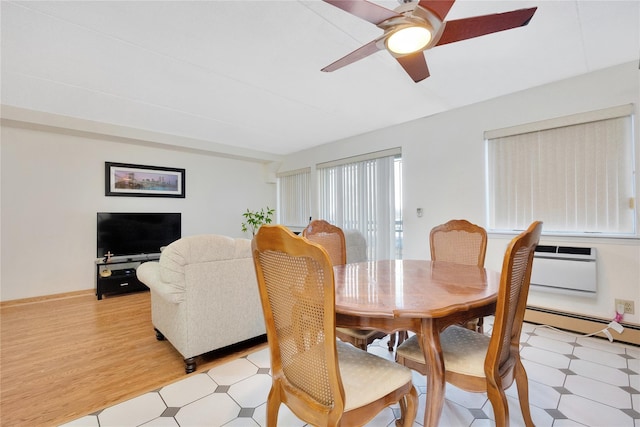
[[[440,333],[445,380],[471,392],[486,392],[496,426],[509,425],[504,390],[515,380],[525,425],[533,426],[529,383],[520,360],[520,333],[529,294],[533,254],[542,222],[536,221],[511,240],[504,255],[491,337],[452,325]],[[427,374],[423,352],[414,335],[398,346],[396,361]]]

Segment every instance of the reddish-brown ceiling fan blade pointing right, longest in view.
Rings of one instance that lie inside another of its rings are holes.
[[[447,21],[444,23],[444,31],[436,46],[523,27],[529,23],[536,9],[537,7],[532,7],[530,9]]]

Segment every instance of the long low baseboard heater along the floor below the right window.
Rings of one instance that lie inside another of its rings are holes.
[[[565,313],[562,311],[550,310],[542,307],[527,306],[524,313],[524,320],[539,325],[549,325],[558,329],[583,334],[592,334],[601,331],[610,322],[611,319],[602,319],[597,317],[589,317],[575,313]],[[624,331],[621,334],[614,330],[609,330],[615,341],[626,344],[640,346],[640,326],[631,323],[621,323]],[[596,335],[600,338],[607,339],[604,335]]]

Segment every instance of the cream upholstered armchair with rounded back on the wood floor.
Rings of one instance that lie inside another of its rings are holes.
[[[265,334],[251,241],[219,235],[183,237],[157,262],[138,267],[151,290],[151,320],[185,360]]]

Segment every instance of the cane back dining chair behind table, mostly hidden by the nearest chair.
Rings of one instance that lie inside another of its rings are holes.
[[[315,219],[302,230],[302,236],[322,246],[331,259],[332,265],[344,265],[347,263],[347,245],[344,232],[340,227],[330,224],[323,219]],[[366,350],[369,344],[379,338],[387,336],[386,333],[356,328],[336,328],[336,336],[344,342]],[[389,350],[392,350],[390,347]]]

